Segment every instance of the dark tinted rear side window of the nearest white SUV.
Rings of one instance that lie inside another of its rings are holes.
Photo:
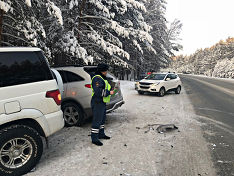
[[[42,52],[0,52],[0,87],[51,79]]]

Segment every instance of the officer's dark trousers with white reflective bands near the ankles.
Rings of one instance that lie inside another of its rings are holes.
[[[99,137],[105,135],[104,124],[106,121],[106,103],[92,98],[91,107],[93,111],[91,139],[92,141],[97,141]]]

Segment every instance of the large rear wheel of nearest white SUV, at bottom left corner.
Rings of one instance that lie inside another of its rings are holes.
[[[43,142],[33,128],[13,125],[2,129],[0,136],[0,175],[21,176],[41,159]]]

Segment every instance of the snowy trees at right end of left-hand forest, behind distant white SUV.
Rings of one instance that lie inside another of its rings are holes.
[[[147,67],[152,70],[158,70],[160,67],[168,66],[173,51],[181,49],[176,43],[181,31],[182,24],[175,20],[170,28],[167,26],[165,18],[166,1],[165,0],[148,0],[145,2],[147,13],[144,15],[148,24],[151,24],[150,34],[153,37],[153,48],[156,54],[145,52],[144,58]]]

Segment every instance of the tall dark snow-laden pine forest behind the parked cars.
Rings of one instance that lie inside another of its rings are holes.
[[[0,45],[41,48],[51,65],[111,64],[115,73],[167,67],[182,27],[165,0],[0,0]]]

